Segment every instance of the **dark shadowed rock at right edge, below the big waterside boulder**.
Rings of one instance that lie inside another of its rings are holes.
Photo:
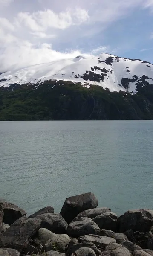
[[[148,241],[152,238],[151,232],[134,232],[133,243],[139,245],[142,249],[148,248]],[[148,248],[151,249],[151,248]]]

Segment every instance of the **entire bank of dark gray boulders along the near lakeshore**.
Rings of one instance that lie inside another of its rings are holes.
[[[47,206],[26,217],[0,201],[0,256],[153,255],[153,210],[129,210],[118,217],[98,207],[93,193],[66,198],[60,213]]]

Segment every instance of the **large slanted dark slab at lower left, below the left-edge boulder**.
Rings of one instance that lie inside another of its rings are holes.
[[[30,238],[40,228],[41,222],[41,219],[21,217],[6,232],[2,233],[0,247],[12,248],[21,253],[26,248]]]

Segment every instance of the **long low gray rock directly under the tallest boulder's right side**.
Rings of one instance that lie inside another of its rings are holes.
[[[101,207],[101,208],[95,208],[95,209],[89,209],[83,212],[80,212],[76,218],[80,217],[87,217],[87,218],[95,218],[98,215],[101,215],[106,212],[111,212],[111,209],[108,207]]]

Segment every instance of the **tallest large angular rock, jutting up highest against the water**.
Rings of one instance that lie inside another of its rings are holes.
[[[69,224],[80,212],[98,206],[98,199],[93,193],[75,195],[66,198],[60,214]]]

